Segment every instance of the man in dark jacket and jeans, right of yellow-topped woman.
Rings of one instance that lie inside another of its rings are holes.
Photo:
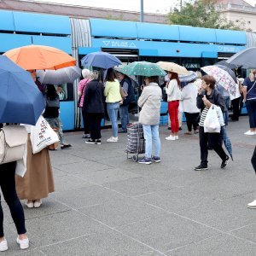
[[[127,132],[127,125],[129,124],[129,105],[135,101],[134,89],[129,79],[125,74],[118,73],[119,81],[127,96],[123,99],[123,104],[120,105],[119,113],[121,118],[122,130],[120,132]]]

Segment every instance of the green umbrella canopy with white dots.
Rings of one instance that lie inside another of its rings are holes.
[[[166,72],[161,67],[148,61],[134,61],[122,68],[122,73],[125,73],[128,76],[134,75],[144,77],[166,75]]]

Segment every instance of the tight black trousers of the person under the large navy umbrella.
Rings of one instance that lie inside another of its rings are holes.
[[[26,233],[26,228],[23,208],[15,188],[15,167],[16,162],[0,165],[0,187],[4,200],[9,206],[18,234],[21,235]],[[3,208],[0,201],[0,237],[3,236]]]

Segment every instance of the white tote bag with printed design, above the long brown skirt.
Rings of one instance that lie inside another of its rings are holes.
[[[33,154],[37,154],[49,145],[59,142],[58,135],[52,130],[43,116],[40,116],[37,124],[32,126],[30,138]]]

